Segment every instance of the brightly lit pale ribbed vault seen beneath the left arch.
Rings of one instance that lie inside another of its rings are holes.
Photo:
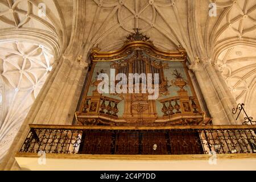
[[[52,70],[52,51],[42,44],[0,43],[2,108],[0,151],[5,152]]]

